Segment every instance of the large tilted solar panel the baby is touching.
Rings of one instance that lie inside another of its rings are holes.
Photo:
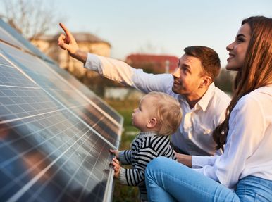
[[[123,118],[7,27],[0,20],[0,201],[111,201]]]

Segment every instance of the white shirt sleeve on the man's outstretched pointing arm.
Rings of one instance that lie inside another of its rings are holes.
[[[130,67],[123,61],[106,58],[88,53],[85,68],[98,72],[99,75],[115,82],[134,87],[144,93],[149,91],[163,91],[167,93],[173,85],[171,74],[153,75],[143,72],[142,69]]]

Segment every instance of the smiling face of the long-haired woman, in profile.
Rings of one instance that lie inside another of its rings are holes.
[[[242,25],[238,30],[235,41],[227,46],[229,57],[228,64],[225,66],[227,70],[238,71],[241,70],[245,63],[245,54],[251,38],[251,30],[247,23]]]

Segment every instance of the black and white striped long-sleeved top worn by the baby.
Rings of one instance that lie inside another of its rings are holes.
[[[169,136],[158,135],[156,132],[140,132],[132,141],[131,150],[119,153],[120,162],[131,164],[132,169],[121,168],[118,179],[122,184],[138,186],[142,200],[147,200],[144,170],[147,163],[158,156],[176,160]]]

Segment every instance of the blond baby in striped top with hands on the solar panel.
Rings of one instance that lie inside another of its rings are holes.
[[[147,201],[147,190],[144,182],[144,170],[152,159],[166,156],[176,160],[170,146],[170,135],[180,125],[182,111],[180,103],[172,96],[161,92],[145,95],[138,108],[132,113],[132,125],[140,134],[132,141],[131,149],[125,151],[110,150],[113,158],[114,177],[121,184],[138,186],[141,201]],[[131,164],[132,169],[120,167],[120,163]]]

